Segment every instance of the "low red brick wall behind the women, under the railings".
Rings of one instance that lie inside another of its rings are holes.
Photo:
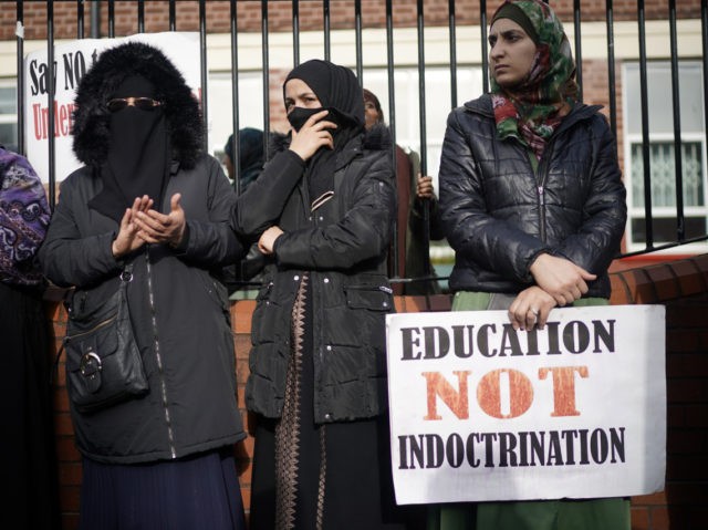
[[[622,269],[622,267],[617,267]],[[670,263],[627,269],[612,274],[612,303],[663,303],[667,320],[667,398],[668,436],[666,489],[632,499],[633,530],[688,530],[705,528],[708,520],[708,254]],[[447,311],[445,295],[399,297],[399,312]],[[235,302],[231,308],[236,332],[239,403],[248,376],[251,300]],[[65,330],[66,315],[60,305],[49,305],[54,321],[55,346]],[[52,358],[53,358],[52,352]],[[60,365],[54,392],[56,453],[60,468],[63,529],[77,526],[80,455],[73,444],[69,404]],[[250,418],[242,411],[247,430]],[[253,439],[249,436],[237,447],[243,502],[250,505]]]

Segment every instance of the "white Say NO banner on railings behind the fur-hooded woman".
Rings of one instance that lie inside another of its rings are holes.
[[[119,39],[81,39],[54,46],[54,138],[56,181],[81,167],[72,150],[72,112],[79,82],[101,53],[128,41],[162,50],[184,75],[195,96],[201,95],[199,33],[138,33]],[[28,158],[42,181],[49,181],[49,66],[46,50],[24,58],[24,123]]]

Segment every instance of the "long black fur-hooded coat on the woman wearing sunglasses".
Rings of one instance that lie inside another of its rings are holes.
[[[103,52],[77,89],[74,152],[86,165],[61,185],[40,250],[43,271],[59,285],[75,287],[72,303],[81,309],[101,304],[118,288],[125,261],[113,257],[112,242],[119,226],[90,201],[103,189],[106,103],[129,75],[152,82],[164,102],[173,155],[162,211],[169,212],[170,197],[181,194],[187,227],[178,248],[146,245],[126,258],[134,263],[127,297],[149,393],[94,414],[71,411],[82,454],[112,464],[174,459],[246,437],[230,306],[215,272],[243,252],[228,222],[236,194],[220,164],[201,152],[202,122],[189,87],[149,45]]]

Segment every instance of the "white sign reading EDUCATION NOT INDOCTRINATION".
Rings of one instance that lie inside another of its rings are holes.
[[[386,319],[399,505],[622,497],[664,489],[665,308]]]

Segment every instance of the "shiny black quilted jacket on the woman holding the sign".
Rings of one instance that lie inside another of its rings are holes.
[[[533,283],[540,252],[597,274],[585,297],[610,297],[607,267],[626,221],[625,188],[598,106],[577,104],[534,173],[529,150],[497,137],[491,97],[448,117],[440,160],[440,211],[456,251],[454,291],[516,293]]]

